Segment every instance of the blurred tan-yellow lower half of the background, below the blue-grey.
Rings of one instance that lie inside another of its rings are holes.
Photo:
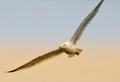
[[[0,47],[0,82],[120,81],[120,46],[109,43],[92,45],[85,42],[81,45],[81,47],[84,46],[84,50],[80,56],[68,58],[67,55],[61,54],[32,68],[11,74],[6,73],[6,71],[57,47],[56,45],[38,47],[40,45],[27,44],[19,48],[17,46],[20,45]]]

